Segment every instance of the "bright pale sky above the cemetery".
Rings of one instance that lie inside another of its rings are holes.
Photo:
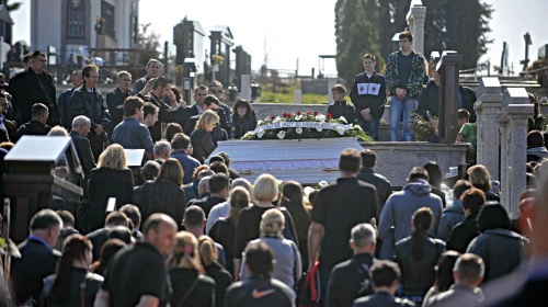
[[[12,14],[15,22],[14,42],[31,42],[30,0]],[[46,0],[42,0],[46,1]],[[93,0],[99,1],[99,0]],[[490,26],[488,55],[492,65],[500,65],[502,44],[510,46],[510,62],[521,71],[524,57],[525,32],[529,32],[533,45],[529,58],[537,58],[538,48],[548,44],[547,0],[484,0],[493,4],[495,12]],[[173,26],[185,15],[199,21],[206,33],[215,25],[228,25],[236,46],[241,45],[252,57],[252,69],[259,69],[269,55],[269,67],[295,70],[299,60],[299,73],[309,75],[312,67],[321,65],[319,55],[334,55],[334,3],[335,0],[140,0],[139,23],[152,23],[150,29],[161,35],[161,41],[172,41]],[[208,39],[206,39],[208,41]],[[209,49],[208,43],[205,48]],[[386,57],[386,55],[385,55]],[[321,69],[322,67],[320,67]],[[333,59],[324,61],[324,72],[336,73]]]

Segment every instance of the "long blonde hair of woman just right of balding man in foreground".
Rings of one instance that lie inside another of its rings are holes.
[[[199,262],[198,240],[189,231],[179,231],[175,235],[173,253],[168,259],[168,268],[194,269],[204,273]]]

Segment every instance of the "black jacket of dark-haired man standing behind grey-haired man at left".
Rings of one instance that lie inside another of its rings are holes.
[[[111,113],[109,113],[103,95],[95,88],[93,88],[93,94],[95,95],[95,102],[92,104],[88,89],[83,84],[76,89],[70,96],[72,116],[83,115],[90,118],[91,132],[95,129],[96,125],[103,126],[104,129],[111,123]]]

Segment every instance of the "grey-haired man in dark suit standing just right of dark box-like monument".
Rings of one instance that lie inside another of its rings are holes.
[[[78,154],[78,159],[82,164],[83,170],[83,182],[80,186],[83,189],[83,194],[88,192],[88,180],[90,179],[90,172],[95,168],[95,159],[93,158],[93,152],[91,151],[90,140],[85,137],[91,130],[90,118],[80,115],[72,120],[72,130],[70,132],[70,138],[75,144],[76,151]]]

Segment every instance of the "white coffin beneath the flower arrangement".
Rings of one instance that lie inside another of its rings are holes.
[[[209,157],[227,152],[230,167],[252,183],[262,173],[270,173],[278,180],[306,184],[334,182],[340,175],[339,156],[346,148],[363,150],[354,137],[228,140],[219,141]]]

